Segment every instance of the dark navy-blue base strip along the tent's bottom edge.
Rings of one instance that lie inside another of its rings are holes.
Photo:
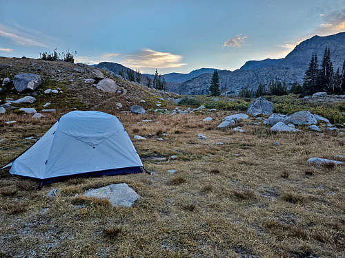
[[[63,180],[67,180],[70,178],[96,178],[102,175],[127,175],[127,174],[136,174],[144,172],[143,166],[130,166],[121,169],[107,169],[102,171],[94,171],[94,172],[86,172],[86,173],[79,173],[75,175],[63,175],[61,177],[56,178],[46,178],[46,179],[38,179],[40,180],[39,189],[41,189],[46,184],[52,184],[54,182],[61,182]]]

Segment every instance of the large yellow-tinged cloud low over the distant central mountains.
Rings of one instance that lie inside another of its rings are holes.
[[[187,65],[181,63],[181,59],[182,56],[177,54],[144,49],[136,54],[127,55],[123,63],[129,67],[177,68]]]

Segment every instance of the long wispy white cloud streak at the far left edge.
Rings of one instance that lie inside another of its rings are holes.
[[[0,24],[0,36],[5,37],[16,43],[17,45],[48,47],[32,36],[28,36],[25,32],[18,32],[13,28],[7,28]]]

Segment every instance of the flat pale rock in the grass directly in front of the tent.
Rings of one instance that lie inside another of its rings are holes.
[[[110,184],[99,189],[89,189],[85,191],[86,197],[108,199],[112,206],[130,207],[140,198],[128,184]]]

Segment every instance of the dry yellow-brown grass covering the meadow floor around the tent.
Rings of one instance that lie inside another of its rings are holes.
[[[141,157],[166,160],[145,159],[151,175],[71,179],[41,191],[34,180],[1,171],[0,257],[345,257],[344,166],[306,164],[344,155],[344,134],[270,133],[253,120],[242,122],[245,133],[215,129],[229,112],[111,113],[131,138],[147,138],[133,140]],[[6,116],[18,122],[0,127],[1,164],[57,120]],[[202,122],[206,116],[214,120]],[[138,125],[141,119],[153,121]],[[132,208],[75,197],[118,182],[141,195]],[[50,200],[53,188],[61,193]]]

